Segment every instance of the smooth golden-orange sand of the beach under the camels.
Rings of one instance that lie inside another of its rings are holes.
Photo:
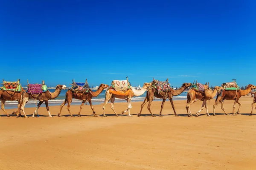
[[[241,115],[226,116],[217,106],[217,116],[188,117],[186,100],[169,101],[163,117],[152,117],[146,106],[137,117],[142,102],[133,102],[128,117],[113,115],[110,104],[108,117],[102,117],[102,105],[95,105],[98,117],[92,116],[89,105],[81,117],[71,118],[64,106],[38,111],[40,118],[6,117],[0,112],[0,170],[255,170],[256,111],[249,116],[253,98],[241,97]],[[202,102],[191,106],[195,114]],[[209,103],[212,114],[214,99]],[[116,103],[121,113],[126,103]],[[158,115],[161,102],[153,102],[151,110]],[[233,101],[225,101],[232,112]],[[236,107],[236,110],[238,105]],[[31,116],[35,108],[25,108]],[[77,115],[79,106],[72,106]],[[7,110],[11,113],[15,109]],[[205,109],[201,113],[205,113]]]

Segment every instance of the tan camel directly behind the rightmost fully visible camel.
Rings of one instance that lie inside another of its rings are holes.
[[[187,105],[186,105],[186,110],[187,110],[188,116],[189,117],[193,116],[190,111],[190,105],[192,105],[196,101],[196,99],[203,101],[203,105],[202,105],[201,109],[196,113],[196,116],[200,115],[200,112],[204,109],[204,106],[206,108],[207,116],[210,116],[206,102],[207,102],[207,100],[214,98],[216,96],[217,92],[220,91],[221,89],[223,89],[223,88],[220,86],[215,86],[213,91],[205,90],[204,92],[195,91],[195,89],[193,89],[193,88],[190,89],[187,94]]]

